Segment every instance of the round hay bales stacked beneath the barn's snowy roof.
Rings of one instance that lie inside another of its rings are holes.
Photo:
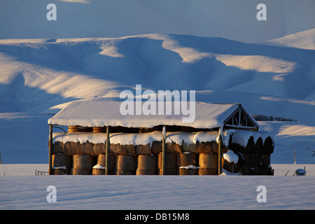
[[[75,129],[73,128],[71,131],[73,130]],[[78,134],[87,134],[87,136],[90,134],[93,137],[96,137],[97,134],[104,134],[106,140],[106,133],[102,133],[105,131],[102,127],[93,128],[90,133],[80,132]],[[153,133],[146,131],[148,130],[142,130],[143,133],[138,134]],[[73,134],[75,133],[71,132],[69,136]],[[116,135],[123,136],[124,134]],[[93,137],[90,136],[88,139],[93,139]],[[228,146],[226,146],[227,143]],[[167,142],[165,146],[166,175],[218,175],[218,143],[216,139],[195,141],[195,143],[183,141],[182,144],[179,141],[172,141]],[[225,144],[223,144],[223,155],[228,153],[228,150],[238,155],[239,159],[230,161],[223,156],[223,169],[243,175],[272,175],[270,154],[274,150],[274,142],[272,137],[265,133],[234,131],[228,137],[228,141],[225,140]],[[78,139],[66,142],[55,141],[52,144],[52,167],[62,167],[53,169],[53,174],[105,175],[106,143],[91,140],[80,142]],[[138,145],[111,143],[108,174],[161,175],[162,141]]]

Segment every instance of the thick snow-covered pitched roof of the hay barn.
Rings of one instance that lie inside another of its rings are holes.
[[[144,102],[142,102],[143,104]],[[173,106],[174,106],[174,102]],[[49,125],[83,126],[83,127],[155,127],[158,125],[177,125],[195,128],[223,127],[228,120],[239,110],[241,104],[206,104],[195,103],[195,120],[190,123],[183,122],[183,117],[189,115],[122,115],[120,105],[122,102],[87,101],[71,102],[62,111],[48,120]],[[166,104],[166,102],[164,102]],[[189,102],[188,102],[189,106]],[[158,106],[157,106],[158,107]],[[174,109],[174,107],[173,107]],[[158,109],[157,109],[158,111]],[[190,111],[193,113],[193,111]],[[187,113],[186,113],[187,114]],[[254,119],[249,116],[253,127],[257,127]]]

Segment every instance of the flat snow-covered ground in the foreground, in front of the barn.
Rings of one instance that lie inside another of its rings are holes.
[[[1,165],[0,209],[315,209],[314,165],[307,176],[292,176],[301,165],[274,167],[275,176],[34,176],[47,165]],[[267,202],[257,201],[258,186]]]

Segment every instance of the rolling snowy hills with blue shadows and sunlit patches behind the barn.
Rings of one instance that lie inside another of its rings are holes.
[[[197,101],[239,102],[250,113],[314,120],[314,52],[178,34],[0,40],[0,111],[117,100],[141,84],[196,90]]]

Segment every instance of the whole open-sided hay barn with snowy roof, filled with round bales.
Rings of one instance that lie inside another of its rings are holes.
[[[274,141],[241,104],[196,102],[193,123],[179,115],[123,116],[120,105],[71,102],[50,118],[49,173],[273,175]]]

